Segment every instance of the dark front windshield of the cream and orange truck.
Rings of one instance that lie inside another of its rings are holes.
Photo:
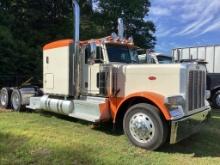
[[[108,58],[110,62],[138,63],[137,51],[125,45],[107,44]]]

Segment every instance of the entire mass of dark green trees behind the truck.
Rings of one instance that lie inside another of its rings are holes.
[[[100,0],[98,11],[92,0],[80,0],[81,39],[99,38],[116,30],[120,13],[127,36],[137,45],[152,48],[155,31],[144,21],[150,6],[147,0]],[[0,75],[42,77],[42,47],[58,39],[72,38],[71,0],[0,0]],[[149,32],[151,31],[151,32]]]

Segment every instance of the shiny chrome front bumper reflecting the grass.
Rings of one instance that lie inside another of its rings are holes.
[[[203,111],[171,121],[170,144],[175,144],[182,139],[198,132],[210,117],[210,107],[206,107]]]

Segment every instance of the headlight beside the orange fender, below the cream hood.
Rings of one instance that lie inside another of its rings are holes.
[[[184,116],[183,107],[185,106],[185,99],[183,96],[171,96],[165,99],[165,105],[167,106],[171,119],[178,119]]]

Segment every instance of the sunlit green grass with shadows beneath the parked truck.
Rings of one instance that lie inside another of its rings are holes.
[[[219,164],[220,111],[200,133],[159,151],[131,145],[110,126],[47,113],[0,111],[0,164]]]

